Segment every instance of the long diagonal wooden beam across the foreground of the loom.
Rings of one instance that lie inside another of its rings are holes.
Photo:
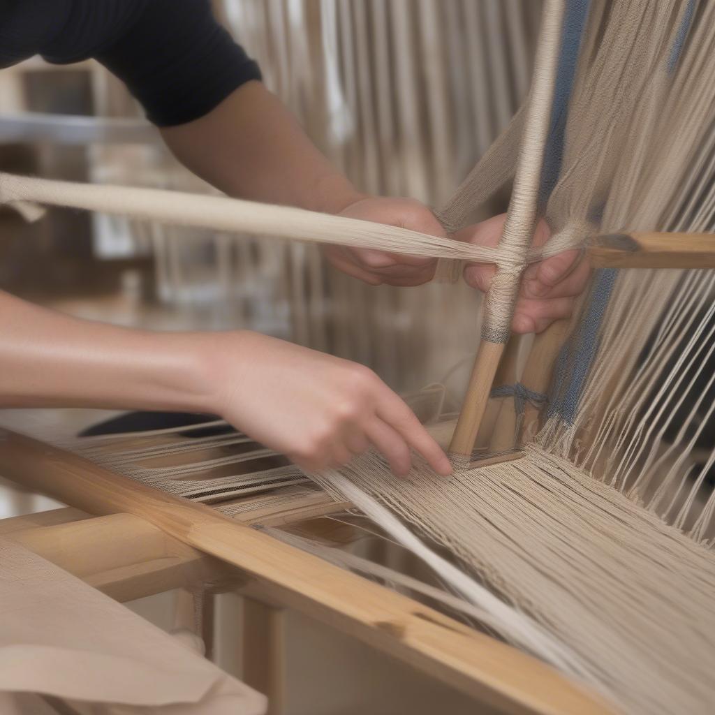
[[[145,518],[242,569],[282,605],[360,638],[481,704],[513,714],[612,712],[541,661],[432,608],[77,455],[0,430],[0,474],[89,513]]]

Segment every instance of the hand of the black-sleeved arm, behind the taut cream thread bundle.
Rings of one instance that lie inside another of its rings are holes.
[[[338,214],[388,226],[399,226],[433,236],[444,236],[435,215],[424,204],[413,199],[364,197]],[[421,285],[433,279],[437,260],[363,248],[326,246],[323,255],[347,275],[370,285]]]

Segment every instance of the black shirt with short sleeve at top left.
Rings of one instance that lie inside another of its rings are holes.
[[[0,0],[0,67],[36,54],[54,64],[94,57],[160,127],[202,117],[260,79],[209,0]]]

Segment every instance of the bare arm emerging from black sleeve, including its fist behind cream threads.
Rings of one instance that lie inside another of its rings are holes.
[[[162,129],[186,167],[231,196],[444,235],[428,207],[413,199],[371,197],[355,189],[318,151],[295,117],[260,82],[247,82],[204,117]],[[373,285],[419,285],[436,261],[379,251],[327,247],[339,270]]]

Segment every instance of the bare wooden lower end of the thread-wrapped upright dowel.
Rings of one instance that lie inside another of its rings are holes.
[[[471,455],[504,347],[503,342],[482,340],[479,343],[467,394],[449,446],[450,452]]]

